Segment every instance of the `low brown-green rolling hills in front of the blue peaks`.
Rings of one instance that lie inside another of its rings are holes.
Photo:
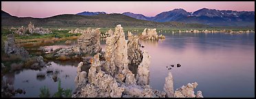
[[[128,28],[210,28],[208,25],[198,23],[145,21],[124,14],[105,14],[104,12],[83,12],[81,14],[89,15],[59,14],[54,17],[32,18],[15,17],[2,10],[1,25],[2,27],[21,27],[28,25],[31,21],[36,27],[47,28],[113,28],[118,24]]]

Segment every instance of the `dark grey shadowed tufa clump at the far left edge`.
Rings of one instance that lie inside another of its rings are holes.
[[[24,47],[19,47],[15,44],[14,34],[8,34],[7,41],[4,43],[4,52],[10,56],[21,56],[21,58],[25,59],[29,57],[28,51],[24,49]]]

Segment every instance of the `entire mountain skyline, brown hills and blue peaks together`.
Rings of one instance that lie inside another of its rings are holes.
[[[174,9],[161,12],[155,17],[124,12],[122,14],[106,12],[79,12],[77,14],[59,14],[54,17],[32,18],[15,17],[1,11],[1,25],[21,26],[32,21],[38,26],[55,27],[111,27],[122,24],[138,28],[210,28],[210,27],[255,27],[254,11],[214,10],[202,8],[195,12]]]

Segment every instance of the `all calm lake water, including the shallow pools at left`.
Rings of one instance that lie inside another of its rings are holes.
[[[172,34],[164,33],[166,39],[158,42],[140,41],[151,56],[149,85],[163,91],[168,72],[173,74],[174,89],[187,83],[197,82],[204,97],[255,97],[255,34]],[[63,47],[63,46],[61,46]],[[65,47],[65,46],[64,46]],[[101,47],[105,50],[105,44]],[[61,87],[74,90],[74,78],[78,61],[52,61],[53,69],[61,71]],[[182,65],[172,67],[170,65]],[[46,72],[45,67],[41,72]],[[36,78],[39,71],[23,70],[3,76],[14,89],[25,89],[26,94],[14,97],[38,97],[40,88],[57,91],[58,82],[52,74]],[[26,81],[28,80],[28,82]]]

